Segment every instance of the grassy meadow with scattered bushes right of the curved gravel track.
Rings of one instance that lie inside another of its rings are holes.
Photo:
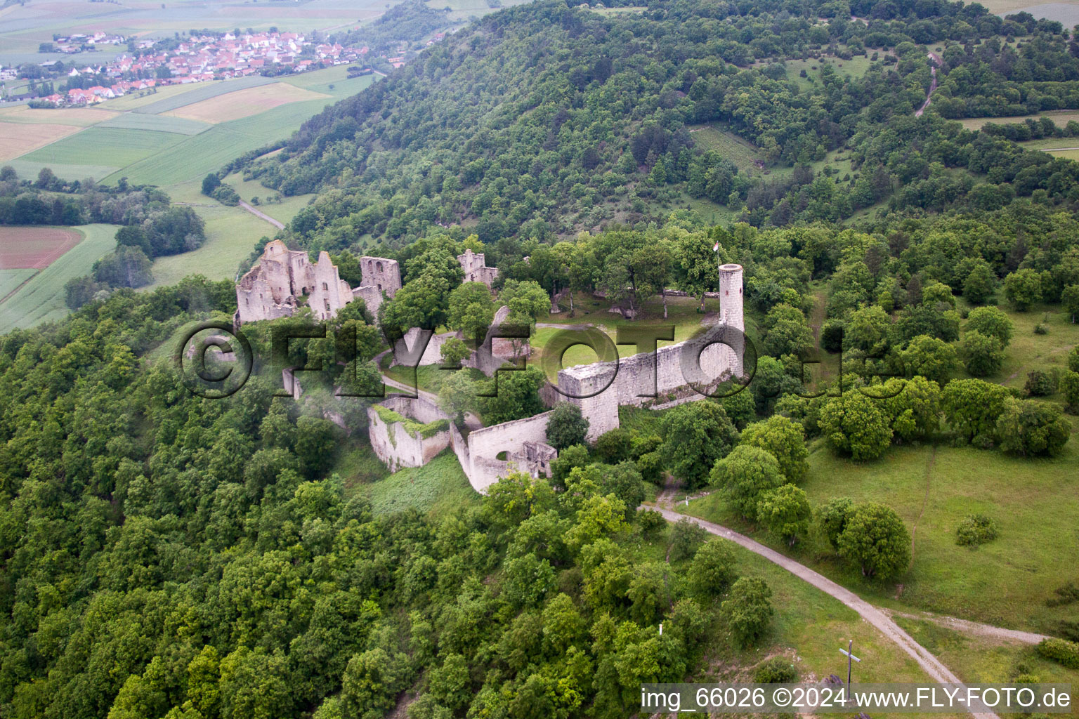
[[[914,559],[899,603],[1000,626],[1046,632],[1067,616],[1044,600],[1069,579],[1079,579],[1070,552],[1079,542],[1079,496],[1068,489],[1079,446],[1069,443],[1054,459],[1023,459],[973,448],[892,447],[880,460],[858,465],[820,442],[802,484],[815,507],[832,497],[876,501],[894,509],[914,533]],[[688,512],[755,534],[719,495],[693,500]],[[997,521],[1000,537],[979,549],[955,543],[968,514]],[[786,548],[777,548],[786,551]],[[795,552],[800,561],[836,581],[894,602],[892,582],[866,581],[841,566],[820,539]]]

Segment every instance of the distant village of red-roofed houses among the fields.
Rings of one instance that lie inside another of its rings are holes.
[[[439,32],[428,44],[441,41]],[[37,107],[85,107],[97,105],[133,92],[154,89],[167,85],[186,85],[214,80],[231,80],[247,75],[277,75],[320,69],[336,65],[357,64],[356,74],[374,72],[372,60],[392,68],[405,64],[404,46],[393,56],[371,56],[365,46],[347,47],[309,39],[300,32],[224,32],[220,36],[191,36],[168,49],[159,40],[135,40],[104,32],[76,33],[57,38],[56,50],[78,52],[82,43],[127,44],[135,52],[123,53],[104,64],[64,64],[50,60],[40,64],[42,70],[56,73],[55,80],[67,78],[67,89],[36,97],[33,93],[11,95],[5,99],[31,100]],[[68,69],[70,68],[70,69]],[[18,68],[0,67],[0,79],[13,80],[21,75]],[[106,84],[103,79],[111,81]]]

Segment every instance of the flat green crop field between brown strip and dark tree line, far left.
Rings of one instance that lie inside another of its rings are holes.
[[[21,160],[47,166],[55,163],[124,167],[167,151],[169,146],[182,139],[183,136],[175,133],[87,127],[78,135],[27,153]]]

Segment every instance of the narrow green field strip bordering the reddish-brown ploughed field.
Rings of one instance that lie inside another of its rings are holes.
[[[85,275],[91,265],[112,251],[117,245],[117,225],[87,224],[77,231],[84,235],[81,243],[62,258],[39,272],[6,301],[0,303],[0,334],[16,327],[32,327],[39,322],[67,315],[64,284]]]

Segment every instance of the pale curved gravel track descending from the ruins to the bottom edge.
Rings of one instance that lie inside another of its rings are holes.
[[[918,666],[920,666],[933,681],[945,685],[962,683],[962,681],[959,680],[959,677],[955,676],[951,669],[944,666],[943,662],[929,653],[929,650],[915,641],[910,634],[903,631],[903,628],[888,616],[888,613],[877,609],[850,590],[836,584],[828,577],[814,571],[809,567],[806,567],[788,556],[783,556],[779,552],[750,539],[746,535],[728,529],[727,527],[706,522],[705,520],[699,520],[695,516],[674,512],[664,507],[655,507],[653,509],[663,514],[664,517],[670,522],[678,522],[682,518],[689,520],[707,531],[716,535],[718,537],[729,539],[736,544],[745,547],[754,554],[760,554],[773,564],[779,565],[798,579],[812,584],[820,591],[838,599],[845,606],[857,611],[862,619],[875,626],[888,639],[898,645],[900,649],[910,654],[911,658],[918,663]],[[978,719],[999,719],[999,717],[993,713],[975,713],[973,716]]]

